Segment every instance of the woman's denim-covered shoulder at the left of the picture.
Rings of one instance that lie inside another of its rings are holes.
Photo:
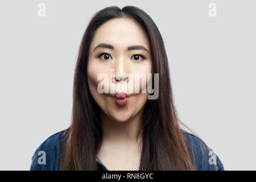
[[[31,171],[59,170],[60,145],[65,130],[48,137],[32,156]]]

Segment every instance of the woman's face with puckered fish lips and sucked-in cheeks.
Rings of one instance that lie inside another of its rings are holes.
[[[89,90],[101,110],[114,121],[124,122],[141,113],[148,99],[148,92],[142,92],[147,84],[139,78],[139,85],[136,85],[135,79],[132,82],[129,74],[144,73],[147,76],[147,73],[151,73],[150,50],[146,32],[133,19],[111,19],[97,29],[89,48]],[[102,88],[109,90],[109,93],[98,92],[98,85],[104,81],[103,78],[98,80],[98,75],[102,73],[108,76],[109,83],[108,87],[104,85]],[[118,75],[127,79],[115,80]],[[110,84],[114,85],[114,92],[110,90]],[[129,88],[133,88],[132,92]],[[139,93],[135,90],[139,90]],[[127,102],[118,104],[115,92],[127,93]]]

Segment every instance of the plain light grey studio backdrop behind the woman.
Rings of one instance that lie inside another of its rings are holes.
[[[226,170],[255,170],[256,2],[242,0],[1,1],[0,169],[30,169],[36,148],[69,126],[82,34],[113,5],[137,6],[158,26],[181,121]]]

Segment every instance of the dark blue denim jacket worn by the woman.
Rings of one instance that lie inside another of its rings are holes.
[[[40,146],[36,149],[32,156],[31,171],[59,171],[60,169],[60,141],[63,131],[48,137]],[[196,169],[199,171],[215,171],[214,164],[217,165],[218,171],[224,171],[224,166],[221,163],[218,156],[203,144],[204,153],[201,151],[199,140],[195,135],[183,132],[186,137],[187,144],[192,144],[192,151],[195,152]],[[204,155],[203,155],[204,154]],[[44,156],[43,156],[44,155]],[[44,159],[43,159],[44,157]],[[204,159],[204,160],[203,160]],[[206,159],[206,160],[205,160]],[[100,159],[96,159],[99,171],[108,171],[108,168],[104,166]]]

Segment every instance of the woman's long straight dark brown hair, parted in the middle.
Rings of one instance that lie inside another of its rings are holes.
[[[60,170],[97,170],[102,128],[100,107],[88,87],[88,53],[97,28],[113,18],[132,18],[142,25],[150,41],[152,73],[159,73],[159,97],[147,100],[139,124],[138,135],[142,133],[143,142],[139,170],[194,170],[195,163],[175,109],[162,36],[150,16],[134,6],[122,10],[116,6],[106,7],[93,16],[86,28],[75,69],[72,122],[61,142]]]

